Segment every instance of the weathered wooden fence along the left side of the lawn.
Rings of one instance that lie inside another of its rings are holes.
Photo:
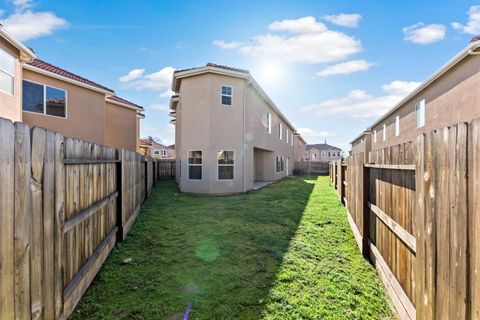
[[[67,318],[133,225],[154,167],[0,118],[0,318]]]

